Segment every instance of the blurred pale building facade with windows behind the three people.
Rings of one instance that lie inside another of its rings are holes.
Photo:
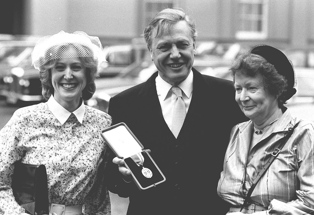
[[[13,30],[2,33],[42,36],[82,30],[105,44],[124,43],[140,37],[148,21],[169,7],[183,8],[195,19],[197,40],[314,46],[313,0],[11,1],[19,7]]]

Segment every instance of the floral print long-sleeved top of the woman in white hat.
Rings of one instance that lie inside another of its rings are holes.
[[[0,131],[0,214],[24,212],[10,187],[14,162],[21,158],[22,163],[46,166],[49,203],[83,205],[84,214],[110,214],[103,185],[108,156],[100,131],[111,125],[111,116],[83,103],[82,123],[79,114],[68,112],[62,124],[49,100],[16,110]]]

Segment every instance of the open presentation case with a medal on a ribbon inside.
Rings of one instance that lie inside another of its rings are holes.
[[[121,122],[102,130],[101,137],[116,156],[124,160],[140,190],[146,190],[166,180],[152,157],[143,150],[143,145],[125,123]]]

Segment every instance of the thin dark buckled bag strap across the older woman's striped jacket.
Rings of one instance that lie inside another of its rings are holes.
[[[273,163],[273,161],[277,158],[277,156],[281,152],[281,149],[284,147],[284,145],[286,144],[288,139],[291,137],[294,129],[299,125],[299,123],[300,123],[300,121],[298,123],[296,123],[295,126],[290,127],[288,129],[288,131],[284,132],[284,137],[280,140],[280,144],[279,144],[278,148],[273,150],[273,152],[271,153],[272,156],[268,159],[268,161],[265,164],[265,166],[263,167],[263,169],[257,174],[256,178],[253,180],[252,186],[250,187],[249,191],[247,192],[247,195],[246,195],[246,197],[244,199],[244,203],[243,203],[243,205],[241,207],[240,212],[243,210],[244,206],[246,205],[246,203],[251,198],[251,194],[252,194],[254,188],[256,187],[258,181],[262,178],[262,176],[265,174],[266,170]]]

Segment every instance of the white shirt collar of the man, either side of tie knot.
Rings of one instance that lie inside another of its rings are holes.
[[[158,73],[158,76],[156,77],[156,88],[157,91],[160,93],[160,96],[162,100],[166,99],[166,96],[171,89],[172,85],[170,83],[167,83],[164,79],[162,79]],[[178,87],[181,88],[182,92],[187,96],[187,98],[190,98],[193,90],[193,72],[190,71],[187,78],[182,81]]]

